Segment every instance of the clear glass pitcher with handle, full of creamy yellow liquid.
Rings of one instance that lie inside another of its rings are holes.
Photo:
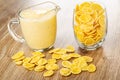
[[[53,46],[56,38],[57,12],[60,7],[53,2],[43,2],[18,12],[18,19],[8,23],[11,36],[21,43],[26,42],[33,50],[43,51]],[[23,37],[17,35],[12,24],[20,24]]]

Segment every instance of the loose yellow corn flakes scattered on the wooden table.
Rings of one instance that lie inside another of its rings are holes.
[[[51,54],[50,59],[46,59],[41,52],[33,52],[31,57],[26,57],[22,51],[17,52],[11,58],[16,65],[22,65],[28,70],[44,71],[43,76],[45,77],[52,76],[57,70],[62,76],[80,74],[82,71],[94,72],[96,70],[96,66],[90,63],[93,58],[75,53],[73,46],[55,48],[48,53]],[[59,61],[62,61],[60,63],[62,66],[58,64]]]

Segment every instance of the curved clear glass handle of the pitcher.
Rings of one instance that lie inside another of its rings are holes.
[[[13,29],[12,29],[12,25],[13,24],[19,24],[19,20],[13,18],[9,21],[7,27],[8,27],[8,31],[10,33],[10,35],[13,37],[14,40],[23,43],[25,40],[23,37],[19,36],[18,34],[16,34]]]

